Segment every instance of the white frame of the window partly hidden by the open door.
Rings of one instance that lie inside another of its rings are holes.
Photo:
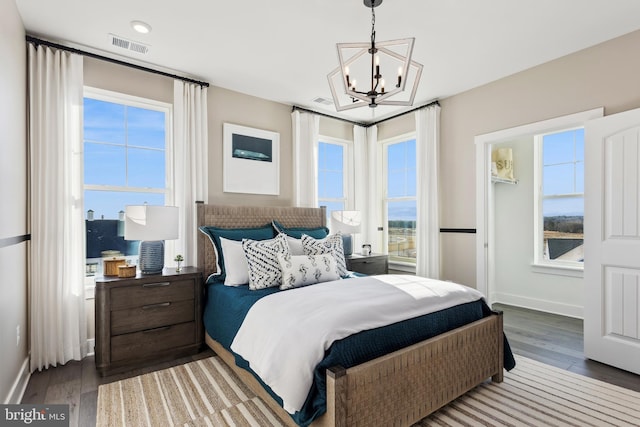
[[[579,261],[566,261],[566,260],[546,260],[544,259],[544,213],[543,213],[543,203],[544,200],[554,199],[554,198],[583,198],[584,199],[584,191],[582,193],[566,193],[566,194],[544,194],[544,160],[543,160],[543,148],[544,148],[544,137],[547,135],[554,135],[563,132],[575,131],[584,129],[584,126],[571,126],[567,128],[554,129],[548,132],[539,133],[534,135],[534,224],[533,224],[533,268],[534,271],[546,273],[550,272],[553,274],[559,275],[567,275],[567,276],[575,276],[581,277],[582,272],[584,271],[584,262]],[[583,143],[583,156],[582,156],[582,164],[584,165],[584,143]],[[574,189],[575,189],[575,172],[576,165],[579,162],[576,161],[575,156],[575,141],[574,141],[574,160],[573,160],[573,169],[574,169]],[[583,210],[584,215],[584,210]]]

